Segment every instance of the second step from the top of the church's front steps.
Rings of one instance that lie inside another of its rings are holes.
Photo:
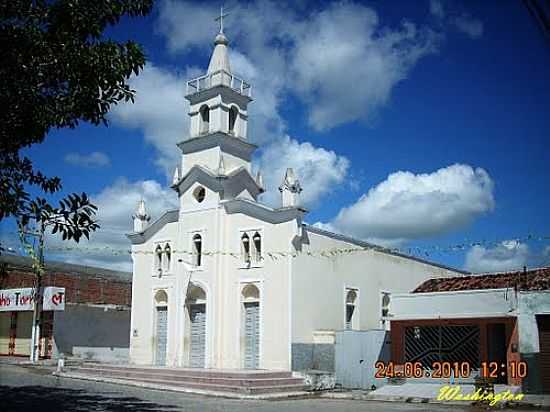
[[[239,377],[220,377],[212,376],[208,374],[202,374],[200,376],[189,376],[184,373],[174,373],[172,371],[165,371],[164,373],[151,374],[150,371],[135,371],[130,370],[130,368],[121,368],[121,369],[106,369],[106,368],[67,368],[68,371],[76,373],[89,373],[100,376],[110,376],[118,378],[130,378],[136,380],[146,380],[146,379],[162,379],[172,382],[177,382],[178,384],[187,384],[187,383],[205,383],[205,384],[215,384],[215,385],[228,385],[228,386],[239,386],[239,387],[267,387],[267,386],[277,386],[277,385],[303,385],[303,379],[293,378],[293,377],[265,377],[263,375],[258,375],[254,378],[243,378]],[[234,374],[235,375],[235,374]]]

